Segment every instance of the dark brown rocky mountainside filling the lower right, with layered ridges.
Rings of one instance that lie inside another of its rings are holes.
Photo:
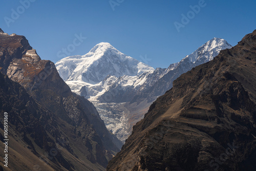
[[[182,74],[107,170],[256,168],[256,30]]]

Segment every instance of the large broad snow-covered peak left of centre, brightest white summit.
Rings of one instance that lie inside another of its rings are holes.
[[[56,68],[65,81],[80,80],[98,83],[108,75],[136,76],[154,68],[127,56],[111,44],[101,42],[86,55],[69,56],[59,60]]]

